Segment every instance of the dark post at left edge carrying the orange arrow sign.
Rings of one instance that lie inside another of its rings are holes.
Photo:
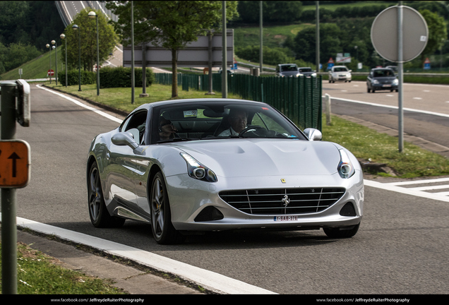
[[[30,126],[30,85],[17,80],[0,87],[1,292],[17,294],[16,189],[30,179],[30,145],[15,136],[16,121]]]

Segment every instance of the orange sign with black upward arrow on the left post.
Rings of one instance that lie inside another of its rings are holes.
[[[30,145],[24,140],[0,140],[0,188],[19,189],[30,179]]]

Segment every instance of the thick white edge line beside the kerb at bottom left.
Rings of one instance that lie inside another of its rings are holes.
[[[17,217],[16,221],[19,227],[25,227],[43,234],[56,235],[56,237],[61,239],[73,241],[77,244],[84,244],[114,256],[131,259],[150,268],[155,268],[164,273],[170,273],[184,280],[195,282],[206,289],[220,294],[276,294],[275,292],[249,285],[246,282],[220,275],[219,273],[181,263],[171,258],[159,256],[155,253],[119,244],[114,241],[92,237],[87,234],[73,232],[68,229],[46,225],[21,217]]]

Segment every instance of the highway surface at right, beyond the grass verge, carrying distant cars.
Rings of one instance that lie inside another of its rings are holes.
[[[449,85],[405,83],[403,87],[404,132],[449,147],[448,93]],[[353,81],[351,83],[323,82],[323,95],[325,94],[333,99],[331,102],[333,114],[354,116],[381,126],[398,129],[397,92],[368,93],[366,83]],[[344,100],[337,100],[337,98]],[[363,101],[383,107],[345,100]]]

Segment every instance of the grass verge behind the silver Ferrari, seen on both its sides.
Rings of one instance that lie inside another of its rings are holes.
[[[49,83],[46,85],[50,86]],[[97,96],[96,85],[83,85],[78,92],[78,86],[56,86],[53,88],[70,92],[101,104],[131,112],[140,104],[170,100],[172,87],[170,85],[153,84],[147,88],[148,97],[138,97],[141,88],[136,88],[136,98],[131,104],[131,88],[101,89]],[[220,92],[215,95],[205,95],[204,91],[183,91],[179,87],[179,98],[209,98],[222,97]],[[238,95],[228,95],[229,98],[241,98]],[[404,150],[398,151],[397,138],[378,133],[372,129],[333,116],[333,123],[326,126],[323,116],[323,140],[339,143],[349,149],[356,157],[371,162],[385,163],[393,169],[400,178],[429,177],[449,174],[449,160],[428,150],[410,143],[404,143]],[[388,176],[383,172],[371,173]]]

